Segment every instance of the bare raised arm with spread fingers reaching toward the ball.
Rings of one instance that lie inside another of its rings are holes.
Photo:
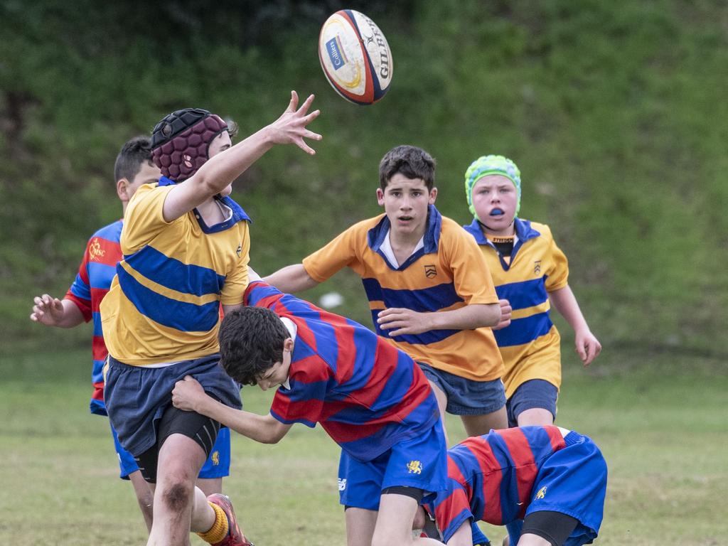
[[[280,118],[232,148],[210,157],[191,178],[170,190],[162,209],[165,221],[171,222],[219,194],[276,144],[295,144],[306,154],[315,154],[304,141],[304,138],[314,141],[322,138],[306,129],[306,125],[320,114],[318,110],[308,114],[313,100],[314,95],[310,95],[298,108],[298,95],[291,91],[288,108]]]

